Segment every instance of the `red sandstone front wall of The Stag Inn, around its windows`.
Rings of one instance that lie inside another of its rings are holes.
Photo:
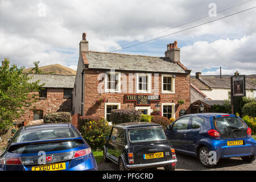
[[[84,102],[84,115],[97,115],[99,117],[104,117],[105,115],[105,105],[96,104],[96,100],[98,98],[104,97],[108,102],[118,102],[121,103],[121,109],[131,109],[135,108],[135,102],[128,102],[124,100],[125,93],[98,93],[98,85],[103,85],[104,88],[104,80],[98,79],[98,75],[100,73],[105,73],[105,71],[93,71],[86,70],[85,72],[85,102]],[[129,75],[129,72],[122,72],[126,76]],[[132,72],[130,72],[132,73]],[[166,75],[166,74],[165,74]],[[127,77],[128,80],[128,77]],[[175,104],[175,118],[179,117],[179,111],[181,109],[187,110],[187,113],[190,113],[190,76],[189,75],[176,75],[175,78],[175,94],[162,94],[162,84],[161,84],[161,74],[159,74],[159,85],[158,85],[158,93],[160,95],[160,102],[162,103],[174,103]],[[151,76],[151,92],[155,89],[154,85],[154,74]],[[127,92],[129,90],[127,84]],[[121,85],[122,90],[122,85]],[[133,78],[133,93],[136,93],[135,90],[135,78]],[[177,104],[178,100],[184,100],[185,103],[182,105]],[[155,105],[157,102],[151,102],[151,109],[155,109]],[[162,109],[162,108],[161,108]]]

